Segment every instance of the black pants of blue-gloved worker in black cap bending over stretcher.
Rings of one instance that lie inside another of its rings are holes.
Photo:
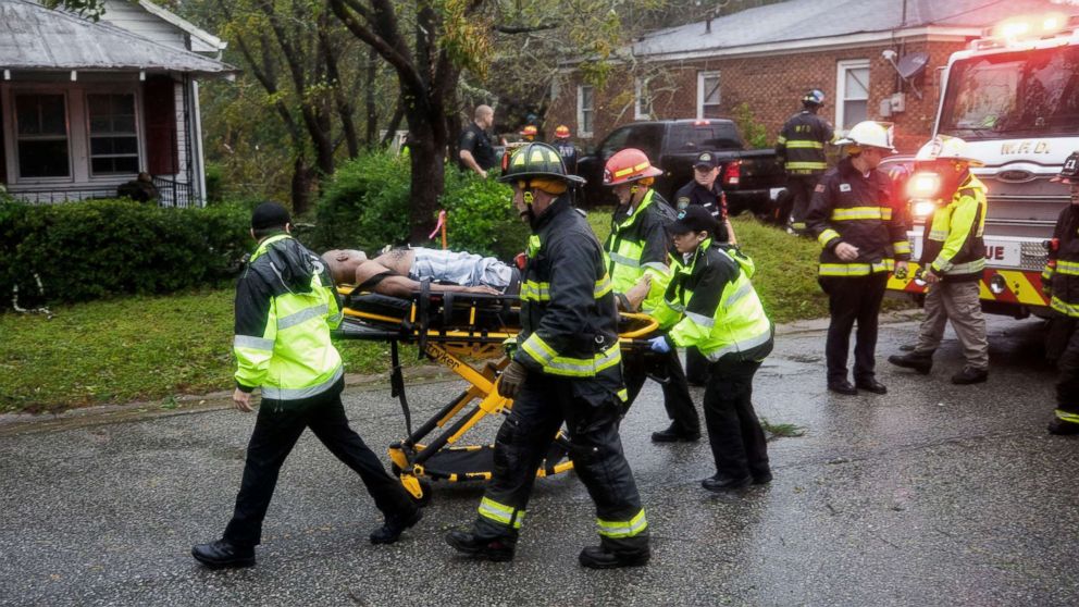
[[[734,479],[769,472],[765,431],[753,410],[757,361],[720,361],[711,366],[705,388],[705,423],[716,471]]]

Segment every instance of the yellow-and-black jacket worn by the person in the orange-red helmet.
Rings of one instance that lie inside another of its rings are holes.
[[[645,273],[652,275],[652,287],[641,304],[649,312],[663,299],[670,269],[667,256],[670,237],[663,225],[658,205],[667,205],[662,196],[649,189],[632,213],[619,207],[611,216],[610,235],[604,244],[607,272],[615,293],[625,293],[637,284]]]

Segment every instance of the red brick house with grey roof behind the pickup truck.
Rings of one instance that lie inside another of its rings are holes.
[[[933,126],[948,57],[1009,17],[1079,14],[1064,0],[787,0],[661,29],[625,49],[605,88],[562,66],[547,115],[584,146],[634,120],[730,117],[743,103],[774,141],[810,88],[842,133],[895,123],[913,152]],[[901,77],[903,72],[906,78]],[[553,129],[553,126],[548,129]]]

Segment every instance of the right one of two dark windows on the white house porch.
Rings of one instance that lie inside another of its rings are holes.
[[[90,175],[138,173],[135,96],[87,95]]]

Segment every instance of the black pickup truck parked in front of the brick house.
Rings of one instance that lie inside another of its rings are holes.
[[[604,165],[624,148],[643,150],[654,165],[663,170],[656,177],[655,189],[671,203],[674,193],[693,179],[693,163],[703,151],[716,152],[720,159],[719,179],[732,215],[742,211],[770,214],[784,195],[786,177],[776,160],[776,151],[745,149],[732,121],[663,120],[621,126],[599,144],[595,153],[583,157],[578,163],[578,174],[588,183],[584,200],[579,203],[585,207],[615,203],[610,188],[603,185]]]

